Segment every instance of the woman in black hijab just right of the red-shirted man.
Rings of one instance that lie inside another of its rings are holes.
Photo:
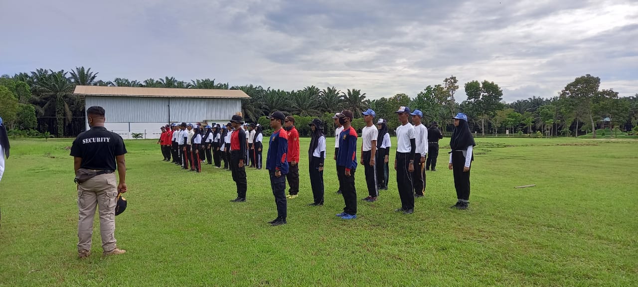
[[[323,134],[323,122],[320,119],[313,119],[308,124],[312,130],[310,147],[308,148],[308,158],[310,159],[309,173],[310,185],[313,188],[315,202],[311,206],[323,205],[323,161],[325,159],[325,135]]]

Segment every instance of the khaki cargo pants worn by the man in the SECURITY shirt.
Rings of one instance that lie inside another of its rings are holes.
[[[105,252],[115,248],[115,205],[117,204],[117,180],[115,173],[97,175],[78,184],[78,251],[91,250],[93,218],[99,207],[100,235]]]

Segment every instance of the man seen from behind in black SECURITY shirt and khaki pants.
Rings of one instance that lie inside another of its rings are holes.
[[[86,114],[91,129],[75,138],[71,156],[76,173],[84,168],[96,172],[96,175],[78,183],[78,257],[87,258],[91,254],[96,209],[100,212],[103,255],[123,254],[126,251],[117,248],[114,233],[117,194],[126,193],[126,147],[121,136],[104,127],[104,108],[93,106],[86,110]],[[116,169],[119,184],[115,179]]]

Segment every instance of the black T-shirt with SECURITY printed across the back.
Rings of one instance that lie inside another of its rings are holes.
[[[71,156],[82,158],[80,168],[115,170],[115,156],[126,154],[124,140],[101,126],[80,133],[71,146]]]

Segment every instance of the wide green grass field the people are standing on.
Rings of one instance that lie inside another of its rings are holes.
[[[391,170],[389,190],[359,202],[353,221],[334,216],[343,198],[331,160],[325,206],[306,206],[308,142],[288,224],[271,227],[266,170],[248,170],[248,202],[230,203],[230,172],[183,172],[153,140],[127,141],[129,206],[115,235],[128,253],[101,258],[96,221],[93,255],[80,261],[71,140],[13,140],[0,286],[638,286],[638,141],[477,138],[470,210],[449,208],[442,148],[414,214],[392,211]],[[514,189],[526,184],[537,186]]]

